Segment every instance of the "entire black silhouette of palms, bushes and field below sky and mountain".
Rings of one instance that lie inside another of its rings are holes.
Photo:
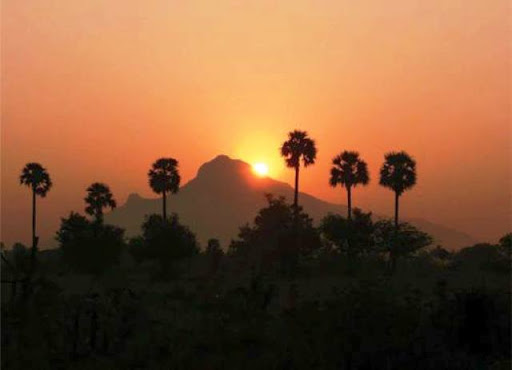
[[[314,164],[305,132],[281,153],[295,170],[292,204],[270,194],[252,224],[222,248],[201,250],[166,196],[178,162],[157,160],[149,185],[162,215],[140,236],[104,223],[109,187],[87,188],[85,212],[61,220],[59,248],[38,251],[36,195],[51,187],[31,163],[32,246],[2,245],[5,369],[508,369],[512,234],[458,252],[398,219],[416,163],[389,153],[380,183],[395,193],[394,220],[352,209],[369,182],[357,152],[333,159],[329,183],[347,191],[347,216],[315,226],[300,207],[299,168]]]

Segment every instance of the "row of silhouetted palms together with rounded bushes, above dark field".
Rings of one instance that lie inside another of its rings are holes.
[[[387,153],[380,169],[380,185],[391,189],[395,195],[394,222],[373,220],[371,213],[357,208],[353,210],[353,189],[369,183],[368,166],[359,153],[342,151],[332,159],[328,183],[345,188],[347,215],[327,215],[319,227],[314,227],[310,217],[301,209],[298,195],[300,169],[315,164],[316,153],[315,141],[306,132],[295,130],[289,133],[280,154],[286,165],[295,171],[293,204],[288,205],[285,199],[267,195],[268,206],[260,210],[254,225],[240,228],[239,236],[228,246],[227,254],[245,256],[246,264],[258,269],[279,266],[280,271],[286,274],[294,274],[301,260],[320,255],[342,254],[349,264],[354,264],[361,256],[378,256],[387,261],[388,271],[393,272],[400,258],[432,244],[429,235],[410,224],[399,222],[400,196],[416,183],[416,162],[403,151]],[[122,254],[128,252],[137,262],[157,261],[160,274],[166,275],[174,273],[172,266],[175,261],[199,253],[194,233],[179,222],[177,215],[167,216],[167,196],[177,193],[180,187],[178,161],[160,158],[151,165],[147,176],[151,189],[162,196],[162,214],[147,215],[141,225],[140,236],[127,240],[123,229],[104,223],[104,211],[117,206],[109,186],[99,182],[91,184],[84,198],[85,214],[89,218],[71,212],[62,218],[56,235],[66,265],[77,272],[100,274],[118,264]],[[37,267],[36,199],[48,194],[52,181],[42,165],[28,163],[22,169],[20,184],[32,190],[30,259],[24,262],[24,274],[17,274],[23,276],[18,279],[25,284]],[[506,245],[509,237],[505,236],[501,245]],[[20,245],[17,249],[21,250]],[[443,249],[438,247],[437,250]],[[206,253],[220,256],[225,252],[218,241],[211,240]],[[510,253],[510,250],[503,253]]]

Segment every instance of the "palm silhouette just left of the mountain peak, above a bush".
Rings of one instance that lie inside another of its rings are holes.
[[[180,187],[180,174],[178,172],[178,161],[174,158],[158,159],[148,172],[149,186],[157,194],[162,194],[163,218],[167,219],[166,194],[176,194]]]

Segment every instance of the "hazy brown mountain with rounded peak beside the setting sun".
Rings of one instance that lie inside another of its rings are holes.
[[[168,197],[168,211],[177,213],[202,245],[209,238],[217,238],[227,248],[231,239],[238,235],[239,227],[252,223],[258,210],[266,205],[266,193],[284,196],[289,201],[293,199],[290,185],[270,177],[255,176],[248,163],[220,155],[203,164],[194,179]],[[346,214],[346,206],[306,193],[300,193],[299,202],[315,222],[328,213]],[[145,199],[131,194],[124,205],[105,216],[105,221],[125,228],[128,236],[134,236],[140,234],[144,216],[160,214],[161,209],[161,198]],[[410,222],[450,249],[475,243],[467,234],[444,226],[421,219]]]

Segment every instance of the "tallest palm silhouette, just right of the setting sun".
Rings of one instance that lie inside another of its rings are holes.
[[[304,167],[315,163],[316,147],[315,142],[308,137],[306,131],[292,131],[288,133],[288,140],[281,146],[281,156],[285,158],[286,166],[295,169],[295,195],[293,207],[298,209],[299,205],[299,169],[300,160]]]

